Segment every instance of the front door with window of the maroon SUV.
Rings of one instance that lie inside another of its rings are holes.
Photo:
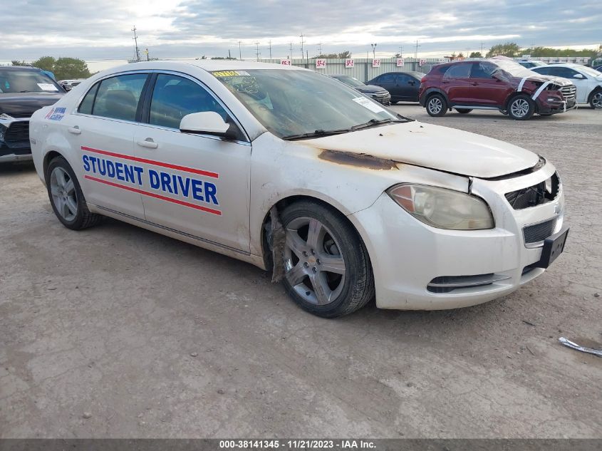
[[[472,63],[469,77],[467,105],[502,107],[509,91],[513,90],[492,73],[497,67],[487,61]]]

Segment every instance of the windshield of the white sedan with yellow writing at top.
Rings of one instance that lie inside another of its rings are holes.
[[[404,120],[343,83],[311,71],[254,69],[212,74],[279,138],[344,133],[360,125]]]

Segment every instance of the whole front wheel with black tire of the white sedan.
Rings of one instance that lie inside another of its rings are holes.
[[[374,298],[368,252],[343,215],[318,202],[300,201],[281,212],[281,221],[286,231],[282,281],[301,309],[336,318]]]

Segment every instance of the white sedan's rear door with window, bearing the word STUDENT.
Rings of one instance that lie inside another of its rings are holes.
[[[141,167],[134,157],[133,137],[138,125],[140,98],[148,73],[126,73],[95,83],[61,124],[78,150],[73,167],[91,204],[144,218],[138,190]]]

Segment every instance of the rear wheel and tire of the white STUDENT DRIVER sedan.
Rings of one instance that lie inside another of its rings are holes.
[[[54,157],[48,165],[46,190],[54,214],[68,229],[87,229],[102,219],[88,210],[78,179],[65,158]]]

